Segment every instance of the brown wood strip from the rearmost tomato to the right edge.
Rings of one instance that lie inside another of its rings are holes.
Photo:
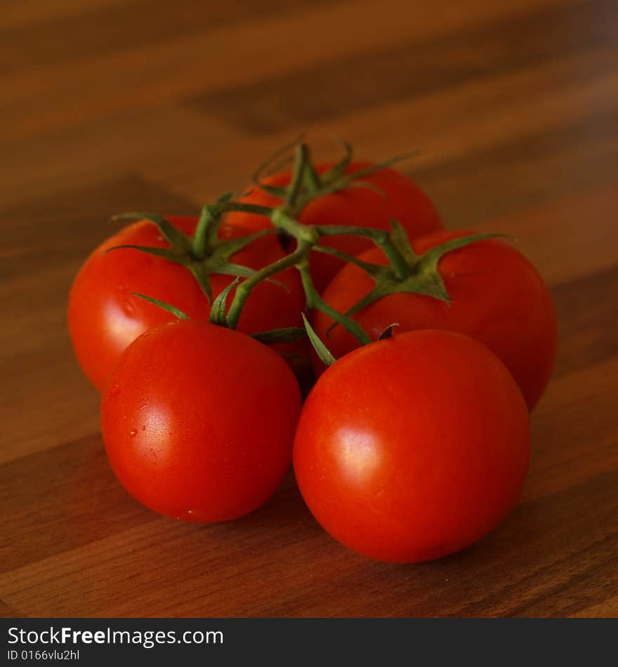
[[[400,169],[426,190],[447,227],[478,223],[611,183],[616,176],[615,110],[504,140],[427,167]]]

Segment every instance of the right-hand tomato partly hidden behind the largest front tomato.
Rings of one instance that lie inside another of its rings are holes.
[[[471,232],[435,232],[412,243],[416,253]],[[378,249],[362,259],[386,264]],[[530,262],[513,247],[489,239],[447,253],[438,266],[452,303],[419,294],[393,294],[355,315],[376,340],[398,322],[395,336],[414,329],[449,329],[468,334],[495,352],[517,381],[529,409],[537,404],[548,383],[555,359],[557,327],[551,296]],[[374,286],[366,272],[346,265],[324,291],[323,297],[346,312]],[[327,330],[332,320],[315,312],[313,326],[335,357],[358,347],[341,326]],[[323,366],[315,364],[319,372]]]

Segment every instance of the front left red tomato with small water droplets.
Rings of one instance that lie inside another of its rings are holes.
[[[121,355],[101,401],[121,484],[145,506],[195,522],[261,506],[291,461],[301,407],[284,360],[197,320],[162,324]]]

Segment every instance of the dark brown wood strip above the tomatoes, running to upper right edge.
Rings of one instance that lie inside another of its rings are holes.
[[[612,0],[556,6],[270,81],[197,95],[188,104],[250,135],[281,132],[615,44],[617,19]]]

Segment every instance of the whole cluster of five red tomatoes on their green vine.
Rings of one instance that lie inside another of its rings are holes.
[[[244,197],[139,220],[86,260],[69,326],[107,456],[138,501],[195,522],[255,510],[293,462],[349,548],[453,553],[525,480],[555,355],[548,291],[504,240],[443,231],[395,169],[300,154]],[[298,357],[317,377],[304,403]]]

